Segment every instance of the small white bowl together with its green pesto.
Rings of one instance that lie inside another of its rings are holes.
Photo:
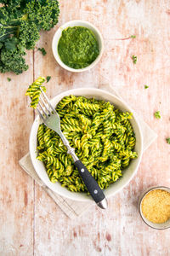
[[[103,38],[99,30],[84,20],[71,20],[54,34],[52,49],[59,65],[71,72],[83,72],[94,67],[103,53]]]

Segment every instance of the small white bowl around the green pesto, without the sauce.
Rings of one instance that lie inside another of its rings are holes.
[[[63,61],[61,61],[61,59],[59,57],[59,53],[58,53],[59,38],[61,37],[63,30],[65,28],[67,28],[68,26],[84,26],[84,27],[87,27],[88,29],[90,29],[92,32],[94,32],[94,36],[97,39],[98,44],[99,44],[99,55],[97,56],[95,61],[92,62],[88,67],[78,68],[78,69],[68,67],[65,65],[65,63],[63,63]],[[85,20],[71,20],[71,21],[66,22],[64,25],[59,26],[59,29],[54,33],[52,49],[53,49],[54,58],[59,63],[59,65],[61,67],[65,68],[66,70],[71,71],[71,72],[80,73],[80,72],[84,72],[84,71],[91,69],[99,62],[101,55],[103,54],[104,43],[103,43],[103,38],[101,36],[101,33],[99,32],[98,28],[95,27],[93,24],[91,24]]]

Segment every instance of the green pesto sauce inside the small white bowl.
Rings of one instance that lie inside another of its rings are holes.
[[[99,44],[87,27],[69,26],[59,38],[58,53],[68,67],[88,67],[99,55]]]

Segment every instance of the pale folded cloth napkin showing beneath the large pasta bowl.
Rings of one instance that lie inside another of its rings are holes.
[[[104,86],[102,86],[104,88]],[[114,90],[109,84],[105,85],[105,90],[110,90],[112,94],[118,96],[121,98],[121,96]],[[154,131],[150,129],[146,123],[144,123],[144,120],[139,118],[139,123],[141,126],[143,138],[144,138],[144,150],[147,149],[151,143],[156,139],[157,135]],[[65,214],[69,218],[76,218],[77,216],[81,215],[82,212],[85,212],[88,207],[94,204],[94,201],[92,202],[81,202],[81,201],[72,201],[70,199],[67,199],[63,196],[60,196],[53,192],[51,189],[48,189],[48,187],[42,182],[42,180],[37,176],[37,172],[35,171],[34,167],[31,163],[31,157],[30,154],[26,154],[20,161],[20,166],[24,169],[25,172],[28,173],[42,188],[48,193],[48,195],[51,196],[51,198],[55,201],[56,204],[60,207],[60,209],[65,212]]]

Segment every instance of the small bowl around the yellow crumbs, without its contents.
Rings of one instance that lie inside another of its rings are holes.
[[[161,190],[164,190],[164,191],[167,191],[170,193],[170,188],[167,188],[164,186],[150,187],[149,189],[145,190],[143,192],[143,194],[140,195],[140,197],[139,197],[139,212],[140,212],[141,218],[144,220],[144,223],[147,224],[148,226],[150,226],[150,228],[155,229],[155,230],[166,230],[166,229],[170,228],[170,218],[165,223],[157,224],[157,223],[153,223],[149,219],[145,218],[144,214],[142,212],[142,201],[144,200],[144,196],[147,195],[148,193],[150,193],[150,191],[156,190],[156,189],[161,189]]]

